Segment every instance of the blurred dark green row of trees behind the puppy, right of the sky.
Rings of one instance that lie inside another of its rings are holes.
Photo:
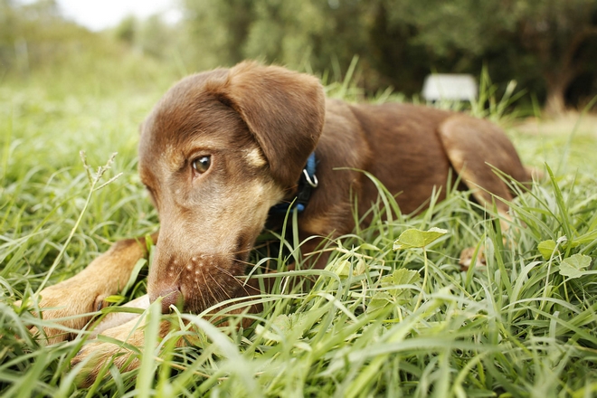
[[[594,0],[185,0],[205,66],[261,58],[325,71],[355,54],[365,88],[418,92],[431,71],[516,79],[553,111],[597,87]],[[583,91],[583,93],[581,93]],[[577,99],[578,100],[578,99]]]

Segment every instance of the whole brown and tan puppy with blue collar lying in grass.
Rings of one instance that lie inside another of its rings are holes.
[[[403,213],[416,212],[434,189],[454,183],[479,204],[507,212],[511,200],[493,167],[521,183],[526,168],[504,132],[486,120],[407,104],[349,104],[326,99],[317,78],[279,66],[242,62],[194,74],[166,92],[141,125],[138,172],[159,214],[147,296],[163,312],[178,305],[198,313],[225,299],[256,294],[239,280],[266,223],[276,228],[297,211],[299,235],[337,237],[355,228],[355,199],[365,214],[378,190],[363,171],[396,195]],[[445,189],[441,190],[445,197]],[[366,220],[365,220],[366,222]],[[313,251],[312,239],[302,251]],[[81,329],[104,299],[125,286],[146,253],[145,238],[115,243],[81,273],[43,289],[44,318]],[[314,261],[322,268],[324,261]],[[74,317],[81,314],[87,316]],[[103,323],[102,334],[143,346],[135,319]],[[49,343],[65,329],[44,330]],[[161,324],[160,334],[168,331]],[[98,332],[98,330],[96,330]],[[123,370],[137,360],[94,342],[73,360],[114,357]],[[87,384],[97,376],[90,374]]]

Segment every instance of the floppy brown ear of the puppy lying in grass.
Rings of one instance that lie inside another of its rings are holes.
[[[223,89],[261,146],[275,181],[296,185],[324,124],[325,96],[317,78],[242,62],[230,70]]]

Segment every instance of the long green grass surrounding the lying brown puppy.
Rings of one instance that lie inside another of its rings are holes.
[[[107,366],[109,378],[77,388],[88,364],[71,368],[70,360],[86,336],[43,346],[28,327],[52,321],[14,301],[32,298],[34,307],[44,280],[69,278],[111,242],[156,230],[156,212],[136,173],[137,126],[173,80],[68,95],[47,82],[0,87],[2,396],[597,393],[597,137],[572,135],[572,128],[547,136],[509,130],[526,164],[546,163],[554,174],[529,192],[517,187],[507,232],[491,209],[450,191],[417,216],[386,222],[384,209],[374,211],[370,226],[328,242],[326,270],[284,272],[289,262],[301,263],[300,242],[288,242],[288,254],[272,259],[281,270],[278,289],[255,298],[264,311],[250,328],[175,314],[175,324],[185,320],[198,331],[173,329],[157,341],[160,317],[152,307],[147,339],[156,348],[141,355],[139,369],[120,374]],[[122,175],[90,195],[81,149],[95,167],[118,152],[98,185]],[[395,206],[387,195],[384,203]],[[448,233],[424,252],[393,250],[406,229],[432,227]],[[539,244],[551,241],[544,256]],[[460,250],[481,245],[487,266],[460,270]],[[575,278],[566,276],[575,264],[581,264]],[[289,291],[297,273],[312,275],[313,289]],[[127,298],[145,289],[139,278]],[[175,347],[180,337],[194,346]]]

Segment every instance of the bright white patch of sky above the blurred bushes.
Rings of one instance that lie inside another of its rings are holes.
[[[175,0],[57,0],[62,14],[92,31],[116,26],[128,15],[140,18],[163,14],[165,21],[176,21],[180,10]]]

